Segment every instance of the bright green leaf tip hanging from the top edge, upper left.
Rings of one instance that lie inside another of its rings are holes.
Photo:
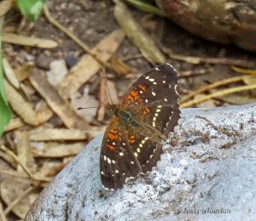
[[[17,0],[21,14],[32,22],[38,20],[42,9],[44,8],[44,0]]]

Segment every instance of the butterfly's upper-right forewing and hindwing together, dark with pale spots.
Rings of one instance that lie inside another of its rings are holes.
[[[177,72],[172,65],[156,66],[131,85],[121,108],[130,111],[137,121],[167,135],[177,125],[180,115],[176,88]]]

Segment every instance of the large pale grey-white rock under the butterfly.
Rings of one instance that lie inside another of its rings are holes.
[[[102,190],[97,137],[26,219],[256,220],[256,105],[185,109],[172,136],[152,172],[115,192]]]

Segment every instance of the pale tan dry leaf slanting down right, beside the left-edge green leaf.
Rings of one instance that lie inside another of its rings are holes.
[[[9,84],[9,82],[5,82],[5,85],[9,105],[11,105],[13,111],[15,111],[27,124],[37,126],[38,120],[36,112],[32,109],[32,104],[26,101],[26,99],[24,99],[24,97]]]

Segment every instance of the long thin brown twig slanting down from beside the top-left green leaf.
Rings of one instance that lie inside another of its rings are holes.
[[[97,54],[94,53],[92,50],[90,50],[90,48],[84,42],[82,42],[71,31],[68,31],[66,27],[62,26],[57,20],[55,20],[49,14],[49,10],[48,10],[46,4],[44,5],[44,15],[45,15],[46,19],[49,20],[49,23],[51,23],[53,26],[55,26],[56,28],[58,28],[61,31],[63,31],[67,35],[67,37],[70,37],[74,42],[76,42],[79,45],[79,47],[83,48],[83,50],[86,53],[90,54],[92,57],[94,57],[98,62],[100,62],[105,67],[108,67],[111,70],[113,69],[112,66],[108,64],[108,62],[105,62],[104,60],[99,59]]]

